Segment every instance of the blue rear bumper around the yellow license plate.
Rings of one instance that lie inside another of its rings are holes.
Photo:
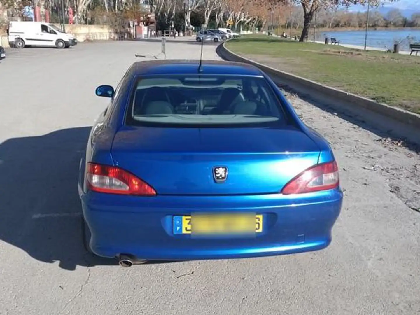
[[[308,252],[327,247],[341,211],[339,190],[290,199],[281,195],[131,197],[81,194],[90,247],[102,257],[147,260],[245,258]],[[173,216],[194,212],[255,212],[263,231],[253,238],[197,239],[173,234]]]

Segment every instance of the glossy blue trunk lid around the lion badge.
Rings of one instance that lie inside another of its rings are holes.
[[[279,192],[318,163],[320,150],[302,131],[278,128],[123,127],[113,141],[114,163],[157,194],[230,195]],[[225,181],[214,168],[226,167]]]

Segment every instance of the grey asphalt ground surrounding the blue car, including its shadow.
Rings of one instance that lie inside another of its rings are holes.
[[[193,43],[167,50],[200,53]],[[345,199],[330,247],[132,268],[89,258],[77,171],[108,102],[94,91],[115,86],[135,53],[157,55],[160,43],[9,50],[0,63],[0,314],[420,313],[419,155],[289,94],[339,163]],[[203,55],[218,58],[215,45]]]

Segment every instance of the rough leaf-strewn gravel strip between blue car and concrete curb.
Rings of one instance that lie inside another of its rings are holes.
[[[420,213],[418,150],[410,150],[404,142],[378,136],[336,114],[325,112],[291,92],[283,90],[283,93],[299,117],[328,140],[337,158],[348,160],[345,165],[353,164],[351,168],[343,166],[341,173],[354,173],[354,167],[359,167],[360,173],[380,176],[390,193],[401,199],[409,210]],[[370,186],[368,181],[361,184]]]

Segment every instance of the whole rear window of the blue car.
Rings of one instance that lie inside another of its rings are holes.
[[[283,125],[281,102],[264,77],[166,75],[139,78],[126,124],[136,126]]]

